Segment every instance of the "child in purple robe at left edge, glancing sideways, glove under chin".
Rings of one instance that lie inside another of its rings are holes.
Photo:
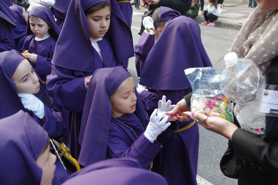
[[[61,136],[65,123],[61,113],[45,91],[45,85],[26,58],[16,50],[0,53],[0,119],[26,111],[48,133],[51,138]],[[62,183],[68,176],[61,162],[57,160],[55,174]]]

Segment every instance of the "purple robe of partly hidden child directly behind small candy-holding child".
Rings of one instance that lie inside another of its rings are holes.
[[[15,17],[17,21],[15,24],[17,27],[13,28],[12,31],[15,39],[15,49],[19,51],[22,48],[24,40],[26,38],[27,22],[22,14],[23,7],[19,5],[13,5],[10,6],[10,9],[17,15]]]

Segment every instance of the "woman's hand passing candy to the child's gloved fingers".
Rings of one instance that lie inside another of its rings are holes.
[[[188,121],[190,117],[184,114],[184,112],[190,111],[185,99],[180,100],[177,105],[171,111],[167,112],[167,115],[170,115],[171,118],[169,121]]]

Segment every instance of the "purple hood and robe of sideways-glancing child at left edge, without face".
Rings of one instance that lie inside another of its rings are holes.
[[[17,66],[24,59],[25,57],[16,50],[0,53],[0,76],[2,76],[0,84],[3,89],[0,92],[0,119],[15,114],[19,110],[26,111],[18,97],[15,83],[11,80]],[[65,129],[64,121],[61,118],[61,113],[53,107],[53,101],[45,91],[45,85],[41,80],[40,90],[34,95],[44,103],[46,123],[43,125],[43,122],[32,111],[27,112],[32,115],[38,124],[43,126],[49,137],[60,136]]]

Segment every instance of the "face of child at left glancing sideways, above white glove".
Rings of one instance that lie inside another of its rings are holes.
[[[20,62],[11,80],[15,82],[17,93],[36,94],[40,90],[38,76],[26,59]]]

